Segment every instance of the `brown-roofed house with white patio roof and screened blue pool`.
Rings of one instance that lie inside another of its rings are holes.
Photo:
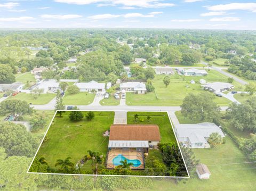
[[[161,140],[156,124],[113,124],[110,127],[106,167],[114,169],[121,160],[131,160],[132,169],[145,169],[149,147]]]

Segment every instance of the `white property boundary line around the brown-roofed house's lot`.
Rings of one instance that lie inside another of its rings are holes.
[[[187,171],[187,173],[188,173],[188,177],[173,177],[173,176],[136,176],[136,175],[83,175],[83,174],[48,173],[48,172],[29,172],[29,169],[30,169],[32,163],[34,162],[35,157],[36,157],[36,155],[37,155],[37,153],[38,153],[38,151],[39,151],[39,148],[42,146],[43,141],[44,141],[44,138],[45,138],[45,136],[47,135],[47,132],[48,132],[48,130],[50,129],[51,124],[52,124],[52,122],[53,122],[53,120],[54,120],[54,118],[55,118],[55,115],[57,114],[58,111],[95,111],[95,112],[126,112],[126,113],[127,113],[127,112],[166,112],[167,115],[168,115],[169,121],[170,121],[170,123],[171,123],[172,130],[173,130],[173,134],[174,134],[175,139],[176,139],[176,142],[177,142],[177,144],[178,144],[178,147],[179,147],[179,150],[180,150],[180,153],[181,153],[181,156],[182,156],[182,160],[183,160],[183,162],[184,162],[184,164],[185,164],[185,168],[186,168],[186,171]],[[183,157],[183,155],[182,155],[182,152],[181,152],[181,149],[180,149],[180,145],[179,145],[177,136],[176,136],[176,134],[175,134],[174,127],[173,127],[173,124],[172,124],[172,120],[171,120],[171,118],[170,118],[170,115],[169,115],[168,111],[57,110],[57,111],[55,111],[55,113],[54,113],[54,115],[53,115],[53,118],[52,118],[52,120],[51,120],[51,123],[49,124],[49,127],[47,128],[47,130],[46,130],[46,132],[45,132],[45,135],[44,135],[44,137],[43,137],[43,139],[42,139],[42,141],[41,141],[41,144],[39,145],[39,147],[38,147],[38,149],[37,149],[37,151],[36,151],[36,154],[35,154],[35,156],[33,157],[33,160],[32,160],[32,162],[31,162],[31,164],[29,165],[29,168],[28,168],[28,170],[27,170],[27,173],[31,173],[31,174],[42,174],[42,175],[69,175],[69,176],[71,175],[71,176],[111,176],[111,177],[150,177],[150,178],[190,178],[190,175],[189,175],[189,172],[188,172],[188,169],[187,169],[187,165],[186,165],[185,160],[184,160],[184,157]]]

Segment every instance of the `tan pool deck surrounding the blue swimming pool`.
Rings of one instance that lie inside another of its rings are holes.
[[[123,155],[129,160],[139,160],[141,164],[138,167],[131,167],[131,169],[145,169],[144,165],[144,154],[143,149],[141,151],[137,151],[136,148],[123,149],[123,148],[111,148],[108,151],[108,159],[107,159],[107,169],[114,169],[116,165],[113,164],[113,159],[118,156]]]

